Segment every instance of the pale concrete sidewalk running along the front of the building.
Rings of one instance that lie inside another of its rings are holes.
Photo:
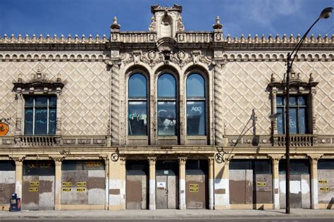
[[[292,209],[290,215],[285,210],[124,210],[124,211],[0,211],[0,219],[4,218],[112,218],[112,219],[209,219],[209,218],[334,218],[334,210]]]

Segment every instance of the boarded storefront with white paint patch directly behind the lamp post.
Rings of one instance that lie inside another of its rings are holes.
[[[279,164],[280,208],[285,208],[285,160]],[[311,208],[309,159],[290,160],[290,208]]]

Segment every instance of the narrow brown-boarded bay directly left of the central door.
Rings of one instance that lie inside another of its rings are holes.
[[[126,209],[147,209],[149,195],[149,162],[126,161]]]

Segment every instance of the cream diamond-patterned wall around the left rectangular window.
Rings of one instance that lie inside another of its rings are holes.
[[[56,80],[58,73],[65,83],[62,93],[61,135],[106,135],[109,122],[110,74],[104,62],[11,62],[0,63],[0,118],[11,117],[11,135],[16,119],[13,82],[22,73],[23,81],[30,80],[38,66]]]

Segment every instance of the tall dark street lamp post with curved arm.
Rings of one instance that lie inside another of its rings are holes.
[[[287,75],[286,75],[286,92],[285,92],[285,213],[290,214],[290,72],[292,69],[292,63],[295,60],[297,53],[304,42],[304,39],[309,34],[314,25],[321,18],[329,18],[330,14],[333,11],[333,7],[328,7],[321,11],[320,16],[316,21],[309,27],[309,30],[305,32],[302,39],[299,40],[295,49],[293,49],[292,53],[287,54]]]

